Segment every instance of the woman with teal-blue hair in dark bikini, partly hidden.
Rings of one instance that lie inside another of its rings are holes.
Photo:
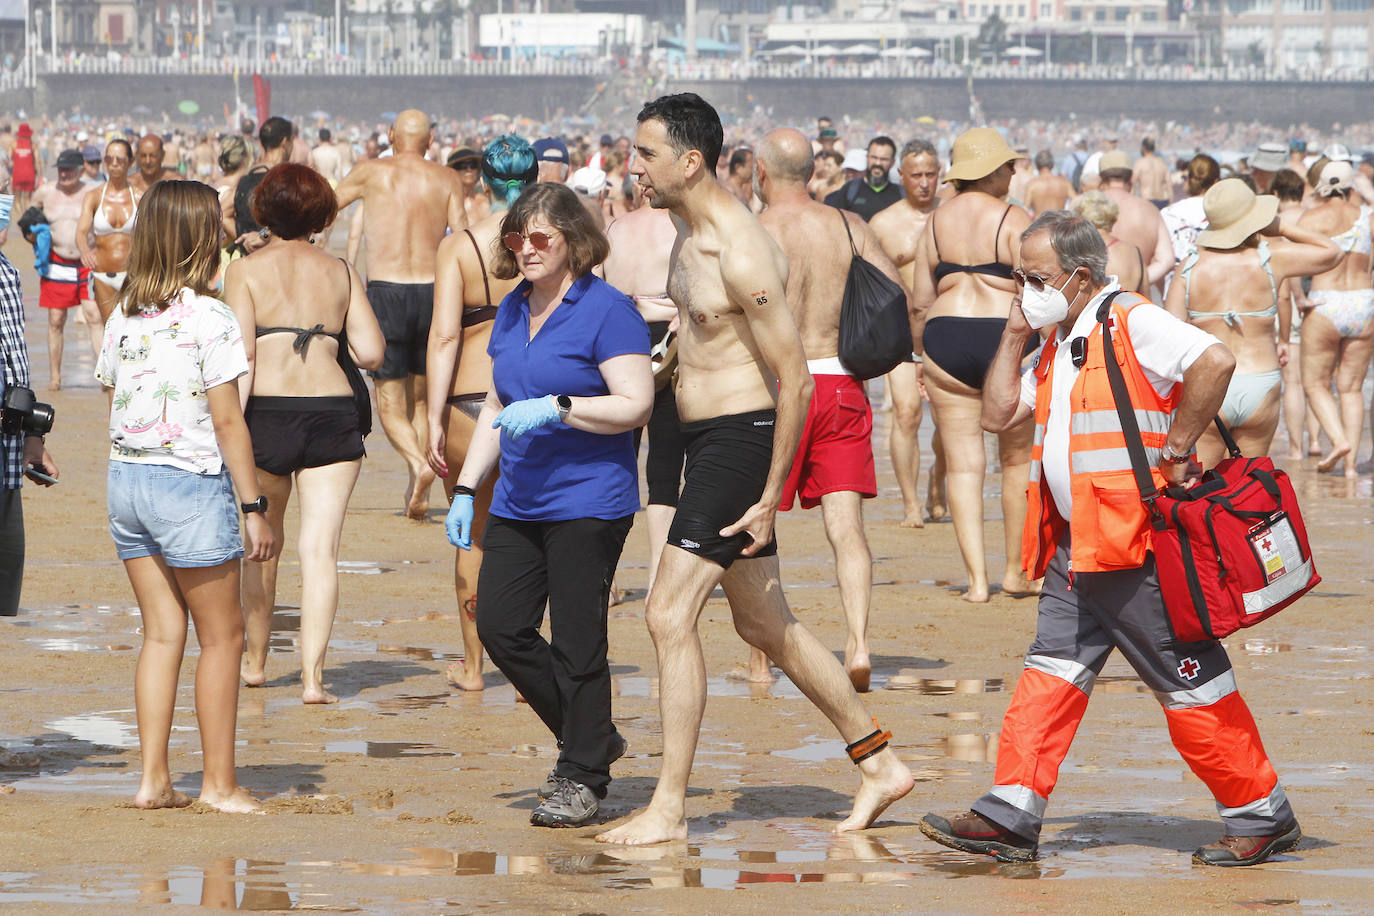
[[[429,463],[452,488],[467,457],[467,444],[477,428],[477,415],[492,387],[492,336],[496,305],[515,288],[519,277],[500,280],[491,273],[500,242],[502,218],[519,192],[539,177],[539,162],[529,143],[517,136],[493,140],[482,155],[482,176],[492,195],[492,213],[455,232],[438,246],[434,273],[434,317],[429,352]],[[486,507],[496,486],[493,475],[477,493],[473,549],[455,551],[453,582],[463,628],[463,661],[448,666],[448,681],[464,691],[482,689],[482,644],[477,639],[477,571],[482,566],[481,534]]]

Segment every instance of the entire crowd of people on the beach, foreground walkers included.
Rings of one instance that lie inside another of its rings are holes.
[[[1147,534],[1124,515],[1081,515],[1102,499],[1088,467],[1106,459],[1084,450],[1080,426],[1112,411],[1073,405],[1070,423],[1065,376],[1084,363],[1091,376],[1101,346],[1094,357],[1091,343],[1058,343],[1095,339],[1088,304],[1125,294],[1112,308],[1138,356],[1132,390],[1179,417],[1150,444],[1164,479],[1223,457],[1213,413],[1246,455],[1270,453],[1282,420],[1289,459],[1356,477],[1374,352],[1374,154],[1358,150],[1374,126],[926,121],[823,117],[802,132],[743,113],[723,124],[679,93],[599,137],[414,110],[376,130],[282,117],[231,130],[4,126],[0,163],[48,314],[49,389],[63,385],[70,312],[110,397],[110,529],[144,621],[135,803],[190,803],[166,754],[190,614],[201,801],[258,806],[235,779],[235,710],[240,684],[267,683],[293,492],[302,702],[337,700],[326,652],[338,553],[375,404],[405,463],[400,511],[426,519],[437,482],[449,500],[464,650],[449,683],[482,689],[485,652],[558,743],[533,824],[591,823],[627,753],[606,622],[643,508],[662,769],[650,806],[598,839],[687,834],[705,705],[697,621],[717,585],[752,647],[747,677],[780,669],[845,739],[860,787],[837,829],[870,825],[912,788],[861,698],[877,402],[892,411],[901,525],[952,520],[963,599],[1040,596],[998,784],[922,829],[1033,858],[1052,772],[1117,647],[1217,798],[1226,836],[1195,861],[1249,865],[1296,846],[1224,650],[1151,644],[1147,556],[1106,562],[1103,544],[1094,566],[1084,547]],[[348,228],[342,258],[335,225]],[[908,304],[911,353],[882,376],[883,401],[877,378],[840,354],[860,260]],[[1091,383],[1080,387],[1085,405]],[[1007,558],[998,585],[984,544],[988,433]],[[820,508],[834,552],[840,659],[780,586],[774,520],[797,503]],[[1061,529],[1073,531],[1072,563]],[[1070,621],[1081,634],[1090,618],[1105,650],[1063,648]],[[1234,747],[1202,747],[1209,728],[1231,729]]]

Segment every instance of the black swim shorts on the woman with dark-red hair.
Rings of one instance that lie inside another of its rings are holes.
[[[253,437],[253,463],[268,474],[287,477],[367,455],[350,396],[250,397],[243,419]]]

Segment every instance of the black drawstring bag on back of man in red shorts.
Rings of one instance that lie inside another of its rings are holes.
[[[911,358],[907,291],[859,257],[844,211],[840,218],[853,254],[840,306],[840,363],[857,379],[875,379]]]

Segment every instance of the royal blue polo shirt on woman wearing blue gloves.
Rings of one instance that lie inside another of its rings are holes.
[[[502,404],[532,397],[610,394],[600,364],[649,354],[649,325],[629,297],[591,273],[529,339],[529,280],[496,312],[492,379]],[[639,511],[633,433],[602,435],[550,423],[518,439],[502,434],[502,479],[492,514],[525,522],[617,519]]]

